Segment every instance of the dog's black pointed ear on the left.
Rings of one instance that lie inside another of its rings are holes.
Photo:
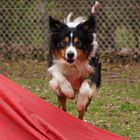
[[[63,27],[65,27],[64,23],[49,16],[49,28],[51,32],[58,32],[63,29]]]

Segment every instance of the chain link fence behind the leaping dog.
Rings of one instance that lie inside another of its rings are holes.
[[[48,15],[88,16],[95,0],[0,0],[0,60],[46,60]],[[97,38],[105,61],[140,60],[140,1],[100,0]]]

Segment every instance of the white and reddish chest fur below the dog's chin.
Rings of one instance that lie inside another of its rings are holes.
[[[79,89],[83,80],[93,72],[93,68],[89,65],[88,61],[76,62],[74,64],[56,62],[48,69],[48,72],[52,76],[54,73],[61,73],[70,82],[73,89]]]

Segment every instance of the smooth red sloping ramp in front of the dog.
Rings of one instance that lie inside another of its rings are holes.
[[[0,140],[127,140],[87,124],[0,75]]]

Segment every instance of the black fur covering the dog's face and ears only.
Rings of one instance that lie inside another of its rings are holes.
[[[53,54],[56,49],[61,49],[66,47],[67,44],[63,43],[63,40],[66,36],[69,36],[73,32],[74,37],[77,36],[80,41],[79,49],[92,51],[92,33],[95,32],[95,18],[90,16],[89,19],[78,25],[76,28],[69,28],[66,24],[49,17],[49,27],[51,31],[49,53]],[[69,36],[70,37],[70,36]]]

